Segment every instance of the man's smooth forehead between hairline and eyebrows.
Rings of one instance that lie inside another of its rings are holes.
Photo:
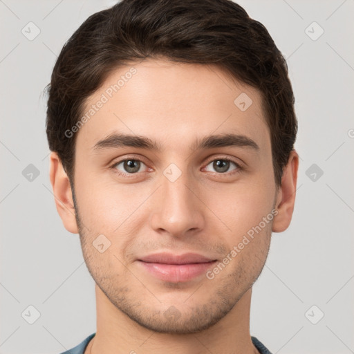
[[[117,68],[88,97],[84,116],[77,147],[119,131],[180,152],[212,133],[242,134],[270,148],[259,91],[216,66],[147,59]]]

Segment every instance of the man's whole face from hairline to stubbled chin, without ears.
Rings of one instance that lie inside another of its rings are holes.
[[[147,60],[111,73],[86,112],[75,210],[97,286],[151,330],[216,324],[259,277],[276,214],[259,92],[213,66]]]

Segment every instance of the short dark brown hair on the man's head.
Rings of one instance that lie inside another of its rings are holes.
[[[88,17],[68,39],[46,87],[46,133],[72,183],[76,134],[65,131],[113,70],[148,57],[214,64],[258,88],[281,185],[297,135],[288,66],[268,30],[230,0],[122,0]]]

